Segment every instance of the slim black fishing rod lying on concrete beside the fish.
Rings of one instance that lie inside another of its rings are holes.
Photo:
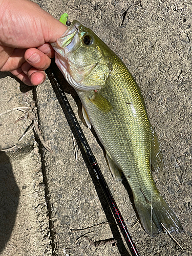
[[[121,212],[120,212],[120,210],[119,210],[119,208],[118,208],[118,206],[117,206],[117,204],[115,202],[115,199],[113,198],[113,196],[111,194],[111,191],[110,191],[110,189],[108,187],[108,184],[106,184],[106,181],[105,181],[105,179],[104,179],[104,177],[103,177],[103,175],[101,173],[101,170],[99,168],[97,160],[96,160],[95,156],[93,155],[93,152],[92,152],[92,150],[91,150],[91,148],[90,148],[90,146],[88,144],[88,141],[86,140],[86,137],[84,136],[84,134],[83,134],[83,132],[81,130],[81,127],[80,127],[80,125],[79,125],[79,123],[77,121],[77,118],[75,117],[75,114],[74,114],[74,112],[73,112],[73,110],[71,108],[71,105],[70,105],[67,97],[66,97],[66,94],[63,91],[60,83],[58,82],[58,79],[56,78],[55,72],[53,70],[51,70],[50,68],[47,70],[47,72],[48,72],[49,76],[51,77],[50,80],[52,80],[52,82],[54,84],[54,87],[57,90],[57,92],[58,92],[58,94],[60,96],[60,99],[61,99],[63,105],[65,106],[65,109],[66,109],[66,111],[67,111],[67,113],[68,113],[68,115],[69,115],[69,117],[70,117],[70,119],[71,119],[71,121],[73,123],[75,131],[76,131],[76,133],[78,135],[78,138],[79,138],[79,140],[80,140],[80,142],[81,142],[81,144],[82,144],[82,146],[84,148],[84,151],[87,154],[87,157],[89,159],[90,164],[92,165],[94,173],[95,173],[95,175],[96,175],[96,177],[97,177],[97,179],[99,181],[99,184],[100,184],[100,186],[101,186],[101,188],[103,190],[105,198],[106,198],[106,200],[108,201],[108,203],[110,205],[110,208],[111,208],[111,210],[113,212],[113,215],[114,215],[114,217],[115,217],[115,219],[116,219],[116,221],[117,221],[117,223],[119,225],[121,233],[123,234],[123,237],[124,237],[124,239],[126,241],[126,244],[128,245],[128,247],[129,247],[129,249],[130,249],[130,251],[131,251],[133,256],[140,256],[140,254],[139,254],[139,252],[138,252],[138,250],[136,248],[136,245],[135,245],[135,243],[134,243],[134,241],[133,241],[133,239],[131,237],[131,234],[130,234],[129,230],[126,227],[126,224],[125,224],[125,222],[123,220]]]

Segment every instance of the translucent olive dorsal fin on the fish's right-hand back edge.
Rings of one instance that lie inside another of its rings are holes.
[[[159,145],[158,137],[153,129],[152,130],[152,142],[151,142],[151,161],[154,169],[161,170],[163,168],[162,153]]]

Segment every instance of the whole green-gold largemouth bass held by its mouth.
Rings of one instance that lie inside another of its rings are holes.
[[[82,102],[87,125],[93,126],[104,146],[113,176],[121,180],[123,173],[129,182],[144,230],[151,237],[163,231],[163,226],[169,232],[183,232],[152,176],[152,166],[159,172],[163,168],[162,153],[132,74],[77,20],[51,45],[58,68]]]

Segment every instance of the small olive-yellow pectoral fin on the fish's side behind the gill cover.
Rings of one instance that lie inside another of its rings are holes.
[[[113,109],[112,104],[97,92],[94,92],[93,97],[89,99],[94,105],[97,106],[98,109],[103,112],[109,112]]]

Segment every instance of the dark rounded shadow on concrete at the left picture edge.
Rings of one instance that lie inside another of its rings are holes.
[[[0,254],[9,241],[16,218],[19,188],[5,152],[0,151]]]

